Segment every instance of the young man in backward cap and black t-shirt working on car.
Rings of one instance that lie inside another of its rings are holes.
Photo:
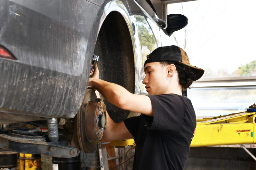
[[[90,78],[110,103],[125,110],[141,113],[120,123],[107,115],[103,139],[134,138],[136,143],[133,170],[181,170],[190,151],[196,130],[196,115],[191,101],[182,96],[204,70],[190,65],[186,52],[177,46],[156,48],[145,61],[144,71],[149,96],[128,92],[122,86]]]

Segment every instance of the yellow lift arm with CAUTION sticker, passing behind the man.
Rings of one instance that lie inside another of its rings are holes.
[[[256,143],[256,112],[241,112],[196,120],[190,147]],[[134,145],[133,139],[111,141],[111,146]]]

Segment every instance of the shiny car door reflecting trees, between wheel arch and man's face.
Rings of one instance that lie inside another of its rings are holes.
[[[145,85],[142,81],[145,77],[144,74],[144,62],[147,60],[147,55],[149,55],[154,49],[162,46],[161,35],[159,26],[154,21],[156,18],[155,12],[147,4],[145,0],[140,0],[138,4],[135,0],[129,1],[131,10],[131,17],[135,26],[135,36],[138,39],[137,45],[137,55],[138,55],[138,83],[140,87],[141,94],[147,95],[148,92],[145,89]],[[143,5],[147,11],[144,10],[140,5]]]

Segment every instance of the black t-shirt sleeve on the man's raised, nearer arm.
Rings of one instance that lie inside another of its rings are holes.
[[[153,117],[141,115],[148,129],[180,131],[185,116],[185,103],[179,95],[162,94],[148,96],[152,103]]]

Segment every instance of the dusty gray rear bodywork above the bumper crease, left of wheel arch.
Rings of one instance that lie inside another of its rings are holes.
[[[82,74],[90,36],[87,33],[100,7],[84,0],[7,2],[1,45],[20,63],[74,76]]]

